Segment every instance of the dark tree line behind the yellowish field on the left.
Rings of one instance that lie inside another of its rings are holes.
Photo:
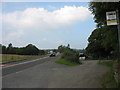
[[[25,47],[13,47],[10,43],[7,47],[0,44],[1,54],[18,54],[18,55],[44,55],[44,50],[39,50],[35,45],[28,44]]]

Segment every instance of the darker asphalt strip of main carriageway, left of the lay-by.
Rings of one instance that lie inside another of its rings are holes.
[[[13,62],[10,64],[6,64],[3,67],[2,75],[5,76],[5,75],[10,74],[10,73],[16,73],[18,71],[39,65],[41,63],[44,63],[44,62],[47,62],[50,60],[54,60],[54,59],[58,59],[59,57],[60,57],[60,55],[57,57],[52,57],[52,58],[47,56],[47,57],[38,58],[38,59],[34,59],[34,60],[26,60],[26,61]]]

